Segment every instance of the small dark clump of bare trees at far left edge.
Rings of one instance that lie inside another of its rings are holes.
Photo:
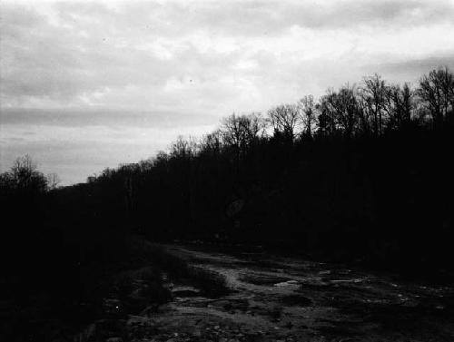
[[[21,268],[25,266],[26,271],[36,271],[37,276],[42,274],[41,265],[49,259],[54,262],[54,256],[46,256],[46,247],[51,245],[54,251],[62,247],[57,238],[61,232],[48,224],[47,204],[57,183],[55,174],[45,176],[28,155],[18,158],[10,171],[0,174],[2,280],[6,281],[10,274],[23,274]],[[49,244],[50,240],[55,243]]]

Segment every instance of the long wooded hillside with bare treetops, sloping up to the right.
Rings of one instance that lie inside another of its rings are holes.
[[[128,230],[440,265],[452,228],[453,79],[448,68],[416,87],[375,74],[264,115],[233,113],[202,139],[56,191],[58,211],[75,231],[96,222],[86,236]]]

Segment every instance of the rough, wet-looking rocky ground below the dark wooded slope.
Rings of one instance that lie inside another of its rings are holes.
[[[454,341],[454,289],[257,252],[166,246],[222,274],[232,293],[173,301],[129,318],[137,341]]]

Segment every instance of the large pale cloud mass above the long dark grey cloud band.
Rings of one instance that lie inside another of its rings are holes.
[[[294,73],[316,60],[354,70],[454,49],[449,1],[109,4],[3,3],[2,106],[220,112],[249,109],[248,91],[263,109],[288,83],[318,88],[324,75]]]

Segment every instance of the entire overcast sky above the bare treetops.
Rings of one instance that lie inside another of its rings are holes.
[[[454,0],[0,0],[0,171],[62,185],[380,73],[454,69]]]

